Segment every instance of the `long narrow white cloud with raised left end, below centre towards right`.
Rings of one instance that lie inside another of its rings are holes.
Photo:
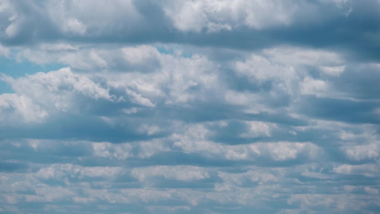
[[[265,129],[266,130],[266,129]],[[209,157],[227,160],[257,160],[269,158],[274,161],[291,160],[299,154],[317,158],[320,149],[311,143],[300,142],[257,142],[246,145],[223,145],[207,141],[209,130],[203,125],[188,126],[184,134],[173,134],[173,145],[184,152],[201,153]]]

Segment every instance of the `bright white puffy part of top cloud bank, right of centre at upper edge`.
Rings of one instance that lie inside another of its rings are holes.
[[[233,30],[242,25],[254,29],[289,25],[299,9],[281,1],[195,0],[166,1],[161,4],[174,26],[182,31]]]

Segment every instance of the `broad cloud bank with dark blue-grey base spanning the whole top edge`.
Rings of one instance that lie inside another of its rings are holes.
[[[331,46],[349,50],[348,55],[368,56],[371,60],[376,60],[378,52],[377,46],[369,46],[377,41],[374,32],[378,26],[374,20],[378,19],[378,2],[367,0],[361,4],[354,1],[122,0],[98,5],[71,0],[3,1],[2,8],[2,29],[6,30],[1,41],[7,45],[46,40],[169,42],[252,50],[292,43]],[[362,19],[367,23],[366,28],[358,24]],[[337,28],[342,30],[333,30]],[[229,39],[231,36],[237,39]],[[356,45],[361,42],[365,45]]]

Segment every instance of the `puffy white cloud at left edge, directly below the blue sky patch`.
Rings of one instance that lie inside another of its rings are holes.
[[[24,118],[33,117],[29,120],[37,120],[34,117],[41,118],[48,115],[44,110],[39,110],[40,107],[38,106],[43,107],[46,111],[70,109],[74,104],[75,93],[83,94],[95,100],[114,101],[115,99],[109,94],[108,88],[101,87],[86,75],[73,73],[68,67],[47,73],[38,72],[16,79],[3,75],[1,79],[11,85],[17,93],[2,94],[3,100],[6,99],[8,102],[7,105],[3,105],[17,106],[16,109],[22,112]],[[11,101],[12,103],[10,103]],[[28,105],[33,106],[33,102],[36,103],[34,108],[36,113],[29,115],[26,111],[33,108],[25,106],[22,110],[22,104],[30,103]]]

